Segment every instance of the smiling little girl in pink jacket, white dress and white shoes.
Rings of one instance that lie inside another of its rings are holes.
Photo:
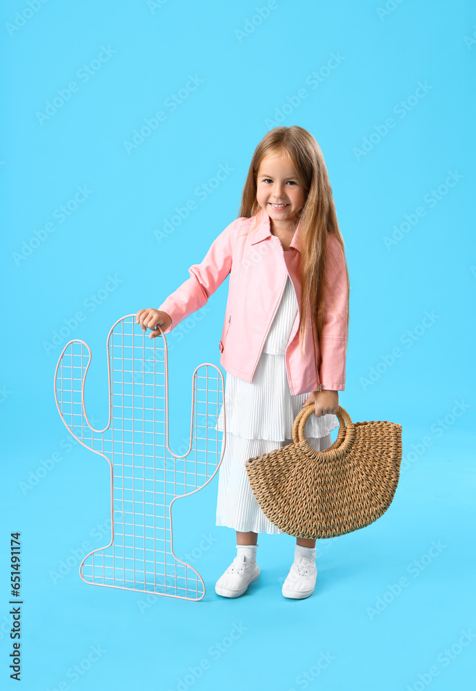
[[[217,580],[235,598],[259,576],[258,533],[282,533],[259,507],[245,462],[292,442],[292,423],[314,404],[306,439],[316,451],[339,426],[348,342],[349,281],[326,164],[313,135],[277,127],[252,156],[239,218],[215,239],[190,278],[160,305],[139,310],[150,337],[199,310],[230,275],[219,349],[226,370],[226,444],[219,468],[217,525],[235,529],[237,555]],[[223,406],[217,429],[224,429]],[[313,594],[315,540],[297,538],[282,587]]]

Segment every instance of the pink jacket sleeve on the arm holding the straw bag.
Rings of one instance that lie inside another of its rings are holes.
[[[344,251],[334,234],[328,237],[325,279],[324,324],[319,343],[319,381],[323,389],[344,391],[348,283]]]

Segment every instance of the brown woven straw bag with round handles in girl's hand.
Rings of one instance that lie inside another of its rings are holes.
[[[298,538],[334,538],[373,523],[390,506],[399,480],[401,425],[352,422],[339,406],[337,439],[324,451],[306,441],[314,404],[292,425],[292,444],[252,457],[246,472],[264,514]]]

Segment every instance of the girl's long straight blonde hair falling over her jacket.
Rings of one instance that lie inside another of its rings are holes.
[[[255,216],[260,207],[257,202],[257,173],[261,160],[266,156],[283,155],[295,168],[299,184],[304,189],[306,202],[299,211],[299,241],[301,243],[301,319],[299,322],[299,348],[302,352],[306,331],[306,308],[310,303],[313,339],[321,341],[324,322],[324,295],[326,292],[325,269],[328,234],[339,240],[344,252],[347,276],[347,299],[350,294],[348,267],[344,238],[337,223],[333,191],[330,187],[324,156],[310,132],[297,125],[275,127],[259,142],[252,155],[248,176],[241,196],[238,218]],[[331,287],[328,286],[328,290]],[[332,299],[332,290],[330,297]],[[342,319],[342,315],[339,315]],[[346,348],[348,345],[349,313],[346,316]],[[317,337],[316,337],[317,334]],[[316,361],[316,368],[319,363]]]

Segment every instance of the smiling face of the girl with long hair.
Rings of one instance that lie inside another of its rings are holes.
[[[297,220],[306,198],[290,161],[282,156],[266,156],[259,166],[256,187],[257,202],[272,220]]]

